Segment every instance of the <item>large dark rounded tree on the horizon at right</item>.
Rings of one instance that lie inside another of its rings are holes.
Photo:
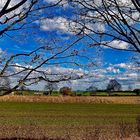
[[[107,86],[107,92],[111,93],[111,91],[119,91],[121,90],[121,84],[117,82],[117,80],[113,79],[109,81]]]

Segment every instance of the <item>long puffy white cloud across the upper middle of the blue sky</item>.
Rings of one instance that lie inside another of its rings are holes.
[[[37,21],[36,23],[40,24],[40,28],[44,31],[61,31],[62,33],[66,34],[77,34],[82,29],[82,25],[80,23],[76,23],[64,17],[54,17],[52,19],[46,18],[41,20],[40,22]],[[86,28],[84,28],[83,31],[86,34],[91,34],[91,30],[98,32],[105,31],[105,26],[101,23],[88,23],[85,26]]]

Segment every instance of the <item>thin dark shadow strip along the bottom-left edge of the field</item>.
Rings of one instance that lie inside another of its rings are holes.
[[[0,138],[0,140],[65,140],[62,138],[41,138],[41,139],[36,139],[36,138],[18,138],[18,137],[13,137],[13,138]]]

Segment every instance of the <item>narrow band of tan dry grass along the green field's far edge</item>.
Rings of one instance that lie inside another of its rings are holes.
[[[140,104],[140,96],[2,96],[1,102]]]

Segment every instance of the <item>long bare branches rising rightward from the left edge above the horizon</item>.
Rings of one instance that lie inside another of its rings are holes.
[[[5,77],[15,79],[15,84],[4,95],[11,93],[22,85],[31,86],[41,81],[57,83],[81,79],[85,75],[84,71],[77,73],[75,69],[57,70],[65,64],[77,68],[94,66],[93,60],[86,56],[86,53],[82,54],[83,52],[76,50],[75,45],[81,39],[82,37],[62,47],[43,46],[30,53],[15,54],[9,57],[8,60],[6,59],[6,62],[1,64],[0,74],[2,76],[6,73]],[[87,63],[80,63],[79,59],[81,58],[86,59]]]

